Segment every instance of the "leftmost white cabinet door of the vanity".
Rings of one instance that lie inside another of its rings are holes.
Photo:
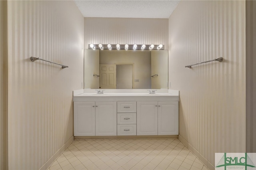
[[[74,102],[74,136],[95,136],[95,102]]]

